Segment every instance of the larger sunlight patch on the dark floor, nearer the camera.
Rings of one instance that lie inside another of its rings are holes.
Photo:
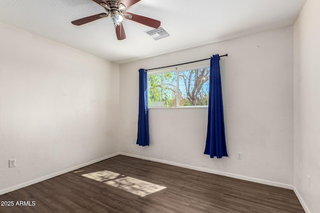
[[[129,193],[141,197],[147,196],[149,194],[158,192],[166,188],[160,185],[152,184],[146,181],[141,181],[139,179],[131,177],[119,178],[113,181],[105,182],[105,184],[117,187],[119,189],[125,190]]]

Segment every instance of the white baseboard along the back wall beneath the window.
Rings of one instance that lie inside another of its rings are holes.
[[[200,171],[200,172],[206,172],[206,173],[211,173],[211,174],[215,174],[215,175],[226,176],[229,178],[236,178],[236,179],[240,179],[240,180],[244,180],[244,181],[250,181],[250,182],[265,184],[265,185],[269,185],[269,186],[273,186],[273,187],[280,187],[280,188],[284,188],[284,189],[293,190],[293,186],[288,185],[288,184],[282,184],[282,183],[277,183],[277,182],[273,182],[273,181],[266,181],[266,180],[262,180],[262,179],[258,179],[258,178],[251,178],[251,177],[247,177],[247,176],[236,175],[236,174],[226,173],[226,172],[220,172],[220,171],[216,171],[216,170],[204,169],[201,167],[194,167],[194,166],[189,166],[189,165],[185,165],[185,164],[179,164],[179,163],[175,163],[175,162],[159,160],[159,159],[155,159],[155,158],[149,158],[149,157],[144,157],[144,156],[139,156],[139,155],[132,155],[132,154],[128,154],[128,153],[120,152],[119,155],[129,156],[129,157],[133,157],[133,158],[139,158],[139,159],[148,160],[148,161],[154,161],[154,162],[158,162],[158,163],[162,163],[162,164],[183,167],[186,169],[196,170],[196,171]]]

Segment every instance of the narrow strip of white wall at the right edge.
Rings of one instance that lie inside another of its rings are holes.
[[[319,8],[307,0],[294,25],[294,186],[312,213],[320,210]]]

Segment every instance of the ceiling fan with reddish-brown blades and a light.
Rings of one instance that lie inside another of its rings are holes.
[[[158,28],[161,24],[160,21],[137,15],[134,13],[126,12],[126,10],[137,3],[140,0],[92,0],[95,3],[102,6],[106,12],[99,14],[91,15],[88,17],[80,18],[74,21],[71,21],[74,25],[82,25],[99,18],[104,18],[108,15],[111,16],[111,19],[114,23],[115,33],[118,40],[123,40],[125,38],[125,32],[122,25],[123,17],[153,28]]]

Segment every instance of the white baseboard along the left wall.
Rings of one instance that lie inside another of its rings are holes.
[[[25,182],[23,184],[19,184],[19,185],[16,185],[16,186],[13,186],[13,187],[9,187],[9,188],[4,189],[4,190],[0,190],[0,195],[6,194],[8,192],[12,192],[14,190],[21,189],[23,187],[30,186],[32,184],[39,183],[41,181],[45,181],[45,180],[50,179],[50,178],[54,178],[56,176],[71,172],[73,170],[89,166],[91,164],[95,164],[97,162],[103,161],[103,160],[108,159],[108,158],[112,158],[112,157],[117,156],[117,155],[119,155],[119,153],[114,153],[114,154],[111,154],[111,155],[108,155],[108,156],[104,156],[102,158],[98,158],[98,159],[90,161],[90,162],[86,162],[86,163],[83,163],[83,164],[80,164],[80,165],[77,165],[77,166],[74,166],[74,167],[71,167],[71,168],[68,168],[68,169],[65,169],[65,170],[61,170],[59,172],[55,172],[55,173],[52,173],[50,175],[43,176],[41,178],[37,178],[37,179],[31,180],[31,181]]]

